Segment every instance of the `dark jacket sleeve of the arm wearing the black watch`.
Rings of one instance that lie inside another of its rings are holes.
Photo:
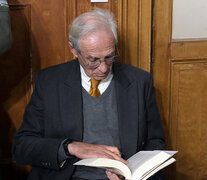
[[[39,76],[26,107],[23,123],[14,135],[13,157],[20,164],[59,169],[58,150],[63,139],[44,136],[43,91]]]

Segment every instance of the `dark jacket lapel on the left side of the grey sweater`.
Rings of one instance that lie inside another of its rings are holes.
[[[78,61],[72,62],[65,81],[60,83],[60,113],[66,138],[81,141],[83,135],[81,77]]]

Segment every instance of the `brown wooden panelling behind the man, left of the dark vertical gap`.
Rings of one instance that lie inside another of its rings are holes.
[[[12,160],[13,134],[20,127],[36,72],[70,61],[68,26],[93,7],[110,9],[118,22],[120,60],[150,70],[151,0],[8,0],[12,48],[0,57],[0,165],[3,179],[25,179],[30,167]]]

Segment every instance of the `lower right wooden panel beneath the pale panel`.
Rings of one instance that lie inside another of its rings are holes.
[[[172,62],[171,139],[176,179],[205,179],[207,156],[207,61]]]

